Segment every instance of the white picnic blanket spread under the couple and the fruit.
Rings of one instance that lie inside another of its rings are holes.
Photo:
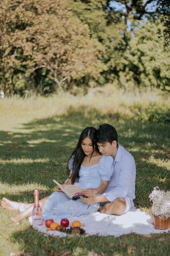
[[[79,217],[73,217],[72,221],[79,220],[84,223],[84,229],[88,235],[113,235],[119,237],[122,234],[128,234],[131,232],[137,234],[150,234],[150,233],[164,233],[169,232],[170,229],[155,229],[151,224],[150,215],[140,211],[140,209],[133,209],[121,216],[101,214],[99,212],[91,213],[89,215],[81,215]],[[60,224],[61,219],[56,220]],[[70,219],[69,219],[70,221]],[[29,222],[32,224],[32,217],[29,217]],[[47,230],[45,224],[42,226],[33,226],[44,234],[56,235],[63,237],[66,234],[63,232]]]

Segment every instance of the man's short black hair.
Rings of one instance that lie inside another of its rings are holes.
[[[96,143],[106,143],[112,144],[113,140],[118,142],[118,134],[115,128],[108,123],[103,123],[99,126],[99,129],[95,134]]]

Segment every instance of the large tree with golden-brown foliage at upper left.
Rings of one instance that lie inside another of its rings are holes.
[[[68,1],[9,0],[0,8],[0,76],[6,89],[15,90],[18,73],[36,81],[42,70],[63,90],[66,79],[102,71],[101,45],[90,39],[88,25],[71,17]]]

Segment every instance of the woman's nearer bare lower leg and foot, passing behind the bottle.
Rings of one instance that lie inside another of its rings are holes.
[[[43,207],[44,207],[48,197],[45,197],[45,198],[39,200],[41,210],[43,210]],[[15,222],[16,224],[19,224],[20,220],[23,220],[26,217],[32,216],[33,207],[34,207],[34,204],[30,205],[24,212],[21,212],[20,214],[17,214],[15,217],[12,217],[11,220],[13,222]]]

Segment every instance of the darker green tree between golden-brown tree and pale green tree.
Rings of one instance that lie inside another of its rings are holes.
[[[88,24],[91,38],[97,39],[103,46],[99,56],[103,71],[98,80],[90,84],[102,85],[108,81],[112,82],[115,77],[119,78],[119,72],[125,69],[126,51],[126,25],[120,13],[109,9],[106,0],[74,0],[71,2],[71,11],[83,23]]]

